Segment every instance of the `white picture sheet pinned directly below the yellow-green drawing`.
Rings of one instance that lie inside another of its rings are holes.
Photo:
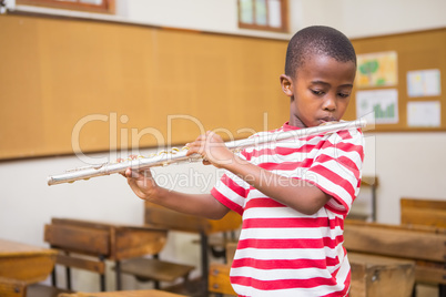
[[[371,113],[374,113],[376,124],[398,123],[398,90],[357,91],[356,117]]]

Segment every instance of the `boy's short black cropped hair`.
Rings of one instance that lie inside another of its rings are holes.
[[[285,74],[294,78],[297,69],[313,54],[331,57],[339,62],[352,61],[356,65],[356,53],[346,35],[330,27],[312,25],[300,30],[290,40]]]

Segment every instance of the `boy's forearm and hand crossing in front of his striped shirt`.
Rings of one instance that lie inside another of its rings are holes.
[[[199,136],[187,146],[189,154],[200,153],[207,163],[234,173],[266,196],[303,214],[315,214],[331,198],[311,183],[281,176],[246,162],[227,150],[221,137],[212,132]]]

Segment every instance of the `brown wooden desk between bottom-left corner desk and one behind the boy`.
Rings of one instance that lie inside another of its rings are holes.
[[[114,260],[118,290],[122,287],[120,260],[160,253],[166,236],[168,231],[161,228],[70,218],[53,218],[44,228],[44,240],[51,247]],[[62,255],[58,257],[63,262]],[[103,289],[103,278],[101,283]]]

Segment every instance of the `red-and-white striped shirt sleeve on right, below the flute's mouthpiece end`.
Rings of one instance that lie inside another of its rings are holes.
[[[359,193],[363,162],[364,136],[361,130],[333,133],[322,143],[303,180],[332,196],[325,205],[328,209],[346,215]]]

